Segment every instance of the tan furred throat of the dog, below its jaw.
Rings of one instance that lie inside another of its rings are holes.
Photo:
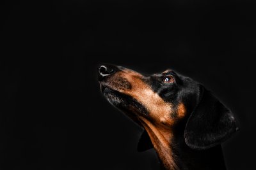
[[[152,144],[154,146],[154,149],[156,150],[157,155],[165,169],[179,169],[179,167],[177,167],[177,165],[175,164],[172,149],[170,147],[170,141],[172,139],[172,133],[170,133],[170,129],[156,127],[156,125],[153,125],[145,118],[141,118],[141,124],[147,131],[148,136],[150,137],[150,140],[152,141]]]

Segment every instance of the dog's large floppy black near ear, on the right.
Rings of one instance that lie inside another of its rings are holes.
[[[232,112],[200,85],[197,106],[184,131],[186,144],[196,150],[211,148],[230,138],[238,129]]]

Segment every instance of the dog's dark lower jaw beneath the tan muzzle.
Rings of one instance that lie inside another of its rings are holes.
[[[134,116],[137,116],[138,114],[144,116],[148,115],[147,109],[133,97],[122,92],[118,92],[107,85],[102,85],[102,83],[100,83],[100,90],[109,103],[124,111],[132,119],[134,119]]]

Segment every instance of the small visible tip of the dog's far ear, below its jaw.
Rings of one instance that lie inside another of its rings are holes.
[[[148,136],[147,131],[144,130],[140,136],[137,150],[138,150],[138,152],[143,152],[143,151],[149,150],[151,148],[153,148],[153,144]]]

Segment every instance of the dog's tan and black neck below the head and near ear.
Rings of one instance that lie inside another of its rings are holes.
[[[226,169],[221,145],[208,150],[193,150],[186,145],[183,135],[159,128],[146,119],[141,124],[152,141],[163,169]]]

